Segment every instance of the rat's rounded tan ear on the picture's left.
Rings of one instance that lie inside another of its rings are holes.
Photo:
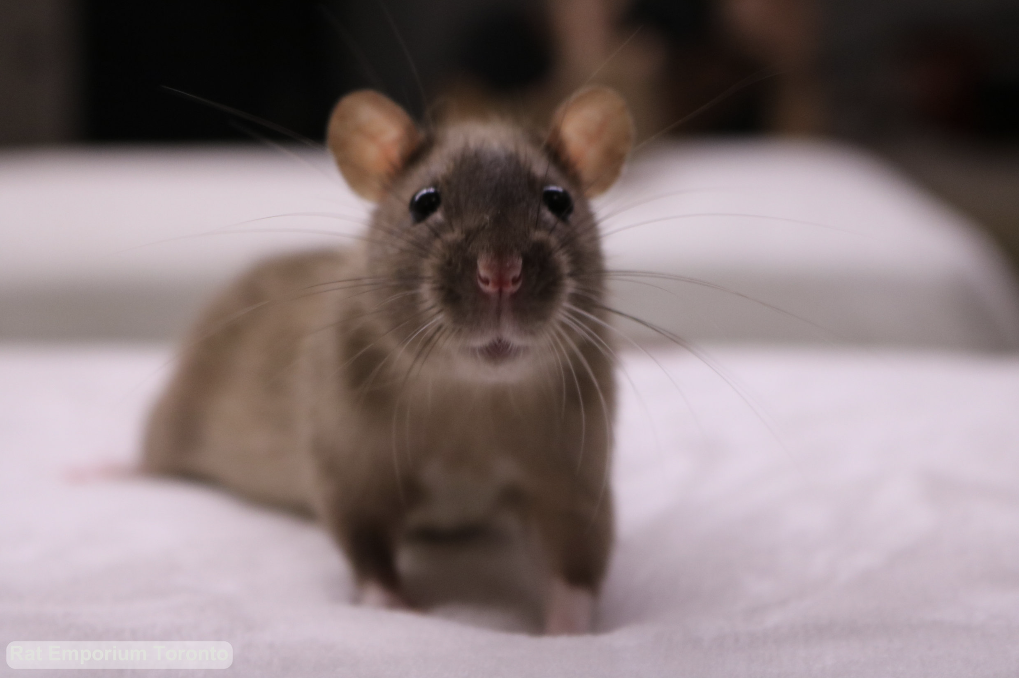
[[[326,143],[351,188],[378,202],[418,148],[421,132],[390,99],[361,90],[332,109]]]

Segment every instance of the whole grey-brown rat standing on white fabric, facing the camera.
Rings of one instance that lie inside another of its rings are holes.
[[[143,468],[313,513],[362,604],[413,608],[409,534],[513,520],[547,569],[544,630],[591,628],[612,542],[615,382],[589,199],[634,128],[589,87],[542,138],[419,127],[343,97],[327,146],[376,204],[354,246],[257,265],[206,310],[150,416]]]

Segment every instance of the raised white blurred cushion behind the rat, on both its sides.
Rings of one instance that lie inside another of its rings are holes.
[[[737,292],[613,281],[623,310],[688,339],[1019,346],[1019,293],[998,252],[862,152],[663,146],[598,207],[611,267]],[[293,213],[305,216],[280,216]],[[307,149],[6,152],[0,337],[177,336],[254,259],[348,242],[365,214],[325,154]]]

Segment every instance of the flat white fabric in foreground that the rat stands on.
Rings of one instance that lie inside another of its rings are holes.
[[[352,607],[321,530],[213,488],[69,483],[132,458],[167,352],[7,347],[0,638],[227,640],[245,676],[1019,674],[1019,357],[712,354],[743,395],[626,356],[597,633],[542,638]]]

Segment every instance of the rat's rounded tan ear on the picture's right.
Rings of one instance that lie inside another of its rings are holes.
[[[608,190],[623,170],[634,140],[626,102],[612,90],[585,88],[552,117],[548,145],[584,184],[588,197]]]

